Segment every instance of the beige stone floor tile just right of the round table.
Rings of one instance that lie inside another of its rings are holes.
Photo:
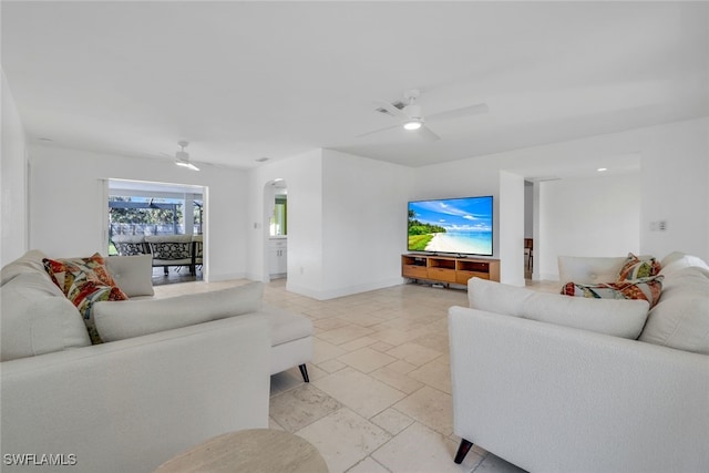
[[[347,408],[296,432],[320,452],[330,473],[346,472],[391,435]]]

